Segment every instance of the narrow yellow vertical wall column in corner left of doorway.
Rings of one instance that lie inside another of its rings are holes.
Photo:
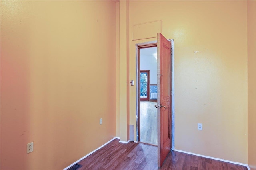
[[[129,2],[119,2],[119,94],[120,141],[129,140]],[[118,127],[117,127],[118,128]]]

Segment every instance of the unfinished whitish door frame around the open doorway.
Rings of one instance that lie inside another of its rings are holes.
[[[172,70],[172,127],[171,127],[171,137],[172,137],[172,150],[175,149],[175,143],[174,143],[174,137],[175,137],[175,100],[174,100],[174,40],[173,39],[168,39],[168,41],[171,41],[171,48],[172,48],[172,54],[171,54],[171,70]],[[138,91],[138,86],[139,86],[139,72],[140,72],[140,51],[139,49],[141,48],[147,48],[147,47],[156,47],[157,46],[157,41],[149,41],[149,42],[144,42],[144,43],[137,43],[135,44],[136,46],[136,141],[140,141],[140,97],[139,97],[139,91]]]

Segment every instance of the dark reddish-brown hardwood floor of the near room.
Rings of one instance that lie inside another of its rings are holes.
[[[114,139],[78,164],[78,170],[157,170],[157,147],[142,143],[119,143]],[[200,156],[171,151],[161,170],[247,170],[245,166],[230,164]]]

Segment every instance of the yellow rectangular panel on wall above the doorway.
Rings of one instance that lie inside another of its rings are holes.
[[[162,20],[133,25],[132,40],[148,39],[162,33]]]

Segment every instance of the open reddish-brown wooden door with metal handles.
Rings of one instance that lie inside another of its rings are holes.
[[[157,33],[158,167],[171,150],[171,43]]]

